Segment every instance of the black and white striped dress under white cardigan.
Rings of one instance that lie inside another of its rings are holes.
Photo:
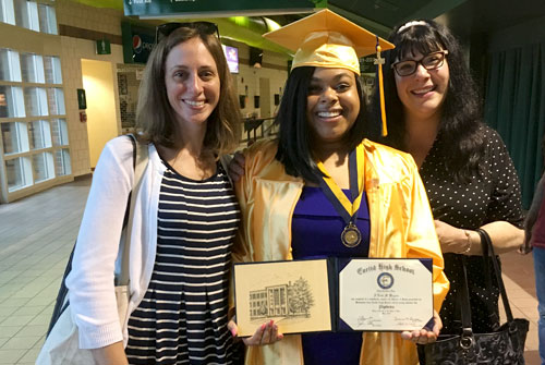
[[[231,364],[227,311],[239,220],[239,205],[220,163],[203,181],[184,178],[167,165],[154,272],[129,320],[130,364]]]

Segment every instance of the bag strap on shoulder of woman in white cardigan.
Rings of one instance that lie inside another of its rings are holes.
[[[142,144],[138,142],[134,134],[128,134],[131,137],[131,142],[133,143],[133,168],[134,168],[134,178],[133,178],[133,187],[129,195],[130,204],[128,205],[128,209],[125,214],[126,224],[123,224],[123,256],[121,257],[121,271],[119,277],[116,278],[117,285],[128,285],[129,284],[129,260],[130,260],[130,252],[131,252],[131,232],[133,228],[133,217],[134,217],[134,206],[136,204],[136,196],[138,195],[138,190],[142,185],[142,178],[144,175],[144,170],[147,167],[149,161],[148,156],[148,145]]]

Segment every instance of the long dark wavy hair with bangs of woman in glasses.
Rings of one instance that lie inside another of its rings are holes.
[[[441,143],[445,156],[450,157],[445,159],[447,170],[458,182],[469,181],[471,175],[482,172],[479,161],[484,154],[485,142],[484,130],[481,127],[481,97],[467,66],[460,42],[447,27],[429,20],[397,26],[388,40],[396,46],[385,52],[386,63],[383,68],[388,136],[383,138],[374,131],[373,139],[407,151],[404,109],[397,93],[391,64],[415,52],[428,54],[441,49],[448,50],[450,78],[438,138],[448,138],[447,143]],[[379,102],[377,86],[371,105],[375,121],[380,117]]]

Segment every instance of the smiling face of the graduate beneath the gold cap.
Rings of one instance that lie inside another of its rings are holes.
[[[306,98],[306,121],[313,144],[342,142],[360,113],[360,97],[353,72],[316,68]]]

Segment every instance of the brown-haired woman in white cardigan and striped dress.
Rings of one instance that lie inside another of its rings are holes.
[[[133,186],[126,137],[106,145],[94,173],[66,280],[72,317],[99,364],[230,364],[239,207],[219,156],[238,145],[240,111],[215,24],[169,23],[157,35],[137,110],[149,161],[134,192],[128,319],[120,324],[113,291]]]

